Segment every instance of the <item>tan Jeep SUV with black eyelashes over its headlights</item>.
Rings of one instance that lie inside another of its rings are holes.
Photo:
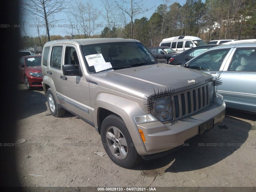
[[[47,42],[42,74],[51,114],[68,110],[94,126],[110,159],[124,168],[172,152],[225,114],[218,80],[158,63],[137,40]]]

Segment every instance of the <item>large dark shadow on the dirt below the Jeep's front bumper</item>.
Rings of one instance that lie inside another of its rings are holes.
[[[229,116],[200,138],[186,142],[180,150],[155,160],[143,161],[134,168],[143,170],[144,175],[154,176],[164,172],[186,172],[212,166],[238,150],[248,138],[252,125]],[[239,117],[239,113],[236,112]],[[241,112],[240,116],[244,116]]]

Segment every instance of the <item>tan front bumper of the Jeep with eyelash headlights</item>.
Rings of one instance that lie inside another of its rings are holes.
[[[144,146],[147,152],[140,155],[156,154],[183,146],[186,140],[200,134],[200,125],[210,120],[214,120],[214,124],[221,122],[225,116],[225,107],[223,97],[218,94],[210,106],[186,118],[167,124],[159,121],[137,124],[146,140]],[[134,145],[136,146],[135,143]]]

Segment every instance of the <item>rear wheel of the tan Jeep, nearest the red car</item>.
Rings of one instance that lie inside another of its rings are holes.
[[[49,88],[47,90],[46,97],[47,97],[47,102],[48,102],[48,106],[49,106],[51,114],[54,117],[63,116],[65,114],[66,110],[57,105],[56,100],[52,94],[51,88]]]

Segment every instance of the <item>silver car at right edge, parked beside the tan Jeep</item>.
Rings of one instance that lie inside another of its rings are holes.
[[[182,66],[219,76],[227,107],[256,112],[256,42],[217,46]]]

